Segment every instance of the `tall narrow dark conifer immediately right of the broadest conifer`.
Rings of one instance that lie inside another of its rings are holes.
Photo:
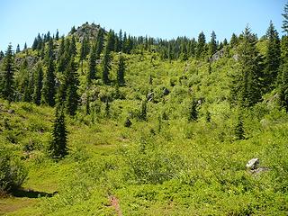
[[[267,48],[266,48],[266,68],[264,70],[264,84],[266,91],[272,89],[275,86],[276,77],[280,67],[280,39],[278,32],[275,30],[275,26],[270,22],[269,28],[266,32]]]

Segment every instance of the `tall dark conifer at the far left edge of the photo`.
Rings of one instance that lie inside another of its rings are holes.
[[[4,57],[4,76],[2,79],[2,96],[9,102],[14,98],[14,55],[12,45],[9,44]]]

